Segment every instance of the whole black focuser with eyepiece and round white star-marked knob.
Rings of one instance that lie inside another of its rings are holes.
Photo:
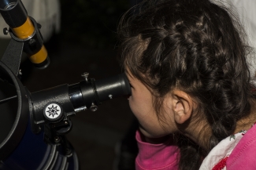
[[[39,132],[41,125],[56,128],[56,132],[69,132],[70,116],[81,110],[95,111],[105,100],[131,95],[131,88],[125,74],[95,80],[82,74],[84,80],[74,85],[59,85],[30,94],[32,130]]]

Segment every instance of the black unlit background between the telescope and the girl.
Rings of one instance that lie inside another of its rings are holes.
[[[22,82],[30,92],[56,85],[72,85],[89,72],[90,78],[106,78],[121,73],[117,63],[117,23],[131,7],[128,0],[61,0],[61,33],[55,34],[46,49],[50,66],[21,65]],[[102,103],[98,110],[81,111],[72,118],[67,138],[75,148],[80,170],[113,169],[115,147],[133,120],[124,97]]]

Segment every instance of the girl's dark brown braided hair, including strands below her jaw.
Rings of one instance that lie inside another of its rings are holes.
[[[146,1],[118,29],[121,65],[152,89],[156,110],[172,89],[197,100],[212,132],[206,153],[250,114],[250,50],[234,18],[209,0]],[[184,136],[179,141],[180,169],[198,169],[200,148]]]

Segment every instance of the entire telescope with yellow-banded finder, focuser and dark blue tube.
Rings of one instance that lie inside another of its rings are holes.
[[[0,13],[11,40],[0,60],[0,170],[77,170],[76,151],[65,138],[70,117],[81,110],[96,111],[108,99],[131,95],[125,74],[95,80],[87,72],[73,85],[29,92],[20,81],[20,58],[46,69],[50,57],[40,24],[28,16],[20,0],[0,0]]]

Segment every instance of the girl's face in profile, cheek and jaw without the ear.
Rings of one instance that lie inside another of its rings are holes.
[[[134,78],[132,74],[127,74],[127,76],[132,88],[132,95],[128,98],[129,105],[139,121],[139,129],[143,135],[155,138],[174,132],[173,113],[171,111],[156,113],[153,105],[153,96],[148,87],[137,78]],[[164,107],[163,110],[171,110],[168,108],[171,106],[166,104],[165,99],[162,107]],[[157,114],[161,114],[160,116],[165,122],[161,123]]]

